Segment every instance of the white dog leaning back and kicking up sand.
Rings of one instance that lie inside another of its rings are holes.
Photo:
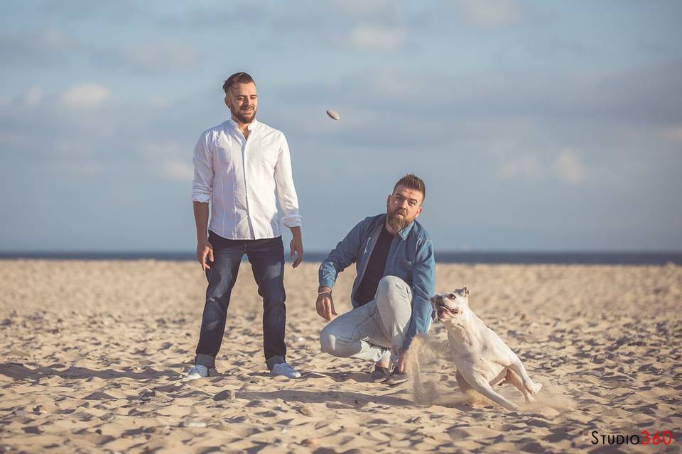
[[[532,402],[531,394],[540,391],[542,385],[531,380],[519,357],[469,309],[468,297],[469,291],[464,287],[431,298],[438,321],[448,328],[460,389],[465,393],[475,389],[506,409],[518,410],[516,404],[494,392],[492,386],[514,384],[526,402]]]

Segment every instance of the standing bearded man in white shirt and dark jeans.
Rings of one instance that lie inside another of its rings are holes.
[[[244,254],[263,298],[263,348],[271,375],[301,377],[286,363],[284,246],[282,222],[291,228],[293,267],[303,260],[301,216],[291,158],[283,133],[256,120],[258,96],[246,72],[222,86],[231,118],[204,131],[194,149],[192,199],[197,224],[197,260],[208,288],[195,366],[188,378],[215,374],[215,357],[225,331],[229,295]],[[208,224],[208,206],[212,206]]]

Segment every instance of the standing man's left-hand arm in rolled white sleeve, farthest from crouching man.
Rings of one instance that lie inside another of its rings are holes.
[[[194,180],[192,200],[194,222],[197,226],[197,260],[202,270],[208,270],[206,257],[213,261],[213,246],[208,241],[208,206],[213,195],[213,156],[202,134],[194,147]]]

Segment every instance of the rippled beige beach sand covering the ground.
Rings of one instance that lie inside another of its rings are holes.
[[[224,376],[187,382],[199,265],[0,261],[0,452],[682,451],[682,267],[438,265],[436,290],[466,284],[472,309],[543,384],[518,412],[463,399],[438,323],[416,393],[320,353],[317,268],[286,270],[288,358],[301,379],[266,371],[244,264],[217,358]],[[352,278],[335,287],[338,311],[350,309]],[[642,431],[672,431],[673,442],[602,443]]]

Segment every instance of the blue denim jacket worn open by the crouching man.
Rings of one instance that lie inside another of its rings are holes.
[[[351,302],[362,282],[369,256],[386,222],[386,214],[370,216],[360,221],[329,253],[320,265],[320,287],[334,287],[337,275],[355,262],[357,276],[353,282]],[[403,228],[393,238],[386,257],[384,276],[397,276],[412,287],[412,318],[403,348],[408,348],[416,334],[428,333],[433,309],[429,299],[435,293],[435,258],[428,232],[417,221]]]

